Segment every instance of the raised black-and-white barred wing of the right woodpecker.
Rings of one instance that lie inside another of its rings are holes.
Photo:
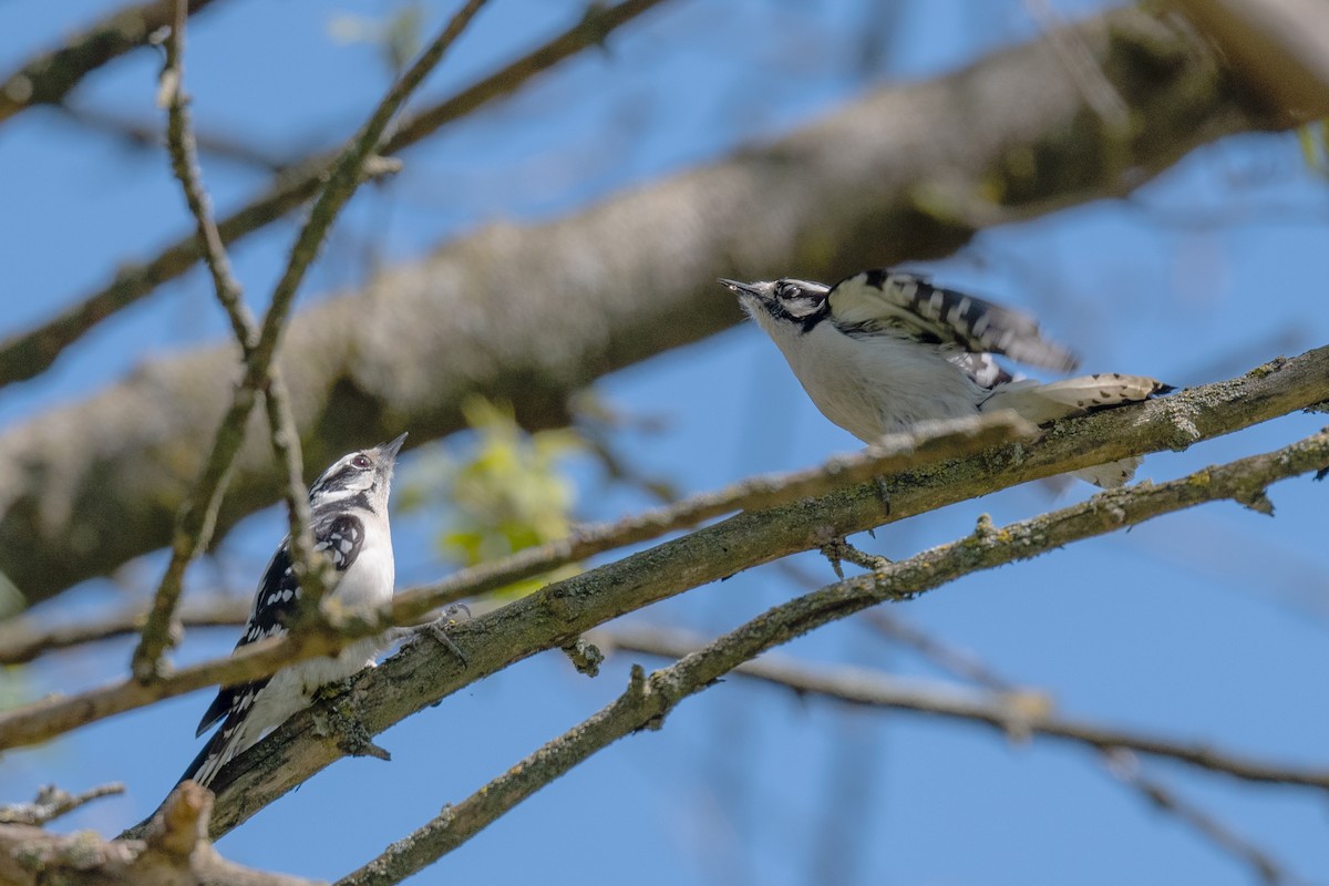
[[[966,353],[997,353],[1034,367],[1071,372],[1075,356],[1047,341],[1029,315],[973,295],[933,286],[926,278],[878,268],[840,280],[828,294],[831,317],[848,335],[898,331],[924,344]],[[975,376],[995,364],[969,367]],[[995,384],[998,379],[990,381]]]

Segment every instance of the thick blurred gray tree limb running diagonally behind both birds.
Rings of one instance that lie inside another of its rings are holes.
[[[462,426],[477,392],[567,421],[597,377],[739,320],[716,276],[836,279],[933,258],[975,230],[1122,195],[1275,116],[1171,16],[1076,25],[1131,109],[1091,110],[1046,43],[888,86],[772,143],[532,227],[494,224],[295,316],[278,364],[306,465]],[[170,541],[239,376],[238,351],[157,359],[0,436],[0,565],[29,603]],[[274,502],[255,422],[219,514]]]

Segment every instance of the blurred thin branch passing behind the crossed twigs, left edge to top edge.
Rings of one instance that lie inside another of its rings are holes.
[[[444,124],[510,94],[560,61],[587,46],[599,45],[610,32],[661,3],[663,0],[625,0],[611,8],[590,4],[582,21],[544,46],[452,98],[403,120],[396,133],[381,146],[381,153],[393,154],[431,135]],[[338,157],[320,154],[294,163],[291,171],[267,193],[219,222],[222,240],[234,243],[303,206],[319,193],[336,162]],[[0,341],[0,385],[40,375],[93,325],[138,302],[162,283],[183,275],[199,258],[194,236],[182,238],[144,264],[122,267],[104,288],[40,327]]]

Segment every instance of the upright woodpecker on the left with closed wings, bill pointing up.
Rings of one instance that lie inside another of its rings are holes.
[[[372,449],[347,453],[310,487],[314,550],[332,561],[328,600],[340,608],[368,614],[391,602],[395,582],[388,493],[392,469],[407,436]],[[300,586],[291,562],[290,537],[272,555],[259,582],[249,623],[235,648],[286,634],[284,620],[299,604]],[[319,687],[373,667],[381,651],[377,638],[358,640],[336,656],[320,656],[282,668],[270,677],[222,687],[203,713],[195,736],[218,720],[222,728],[189,765],[181,781],[213,781],[221,768],[254,745],[268,731],[306,708]]]

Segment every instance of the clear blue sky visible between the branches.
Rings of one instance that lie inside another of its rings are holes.
[[[0,4],[0,69],[110,5]],[[1096,4],[1057,7],[1075,16]],[[278,154],[336,143],[387,80],[373,50],[334,40],[330,23],[392,8],[218,3],[190,32],[186,77],[199,129]],[[882,37],[873,23],[892,8],[872,0],[664,4],[603,52],[407,153],[403,175],[356,198],[300,304],[356,286],[375,262],[419,255],[489,221],[557,217],[787,132],[874,84],[925,78],[1035,33],[1014,0],[954,0],[906,4]],[[432,1],[425,9],[432,33],[449,7]],[[425,93],[445,94],[502,64],[579,9],[492,0]],[[76,104],[155,120],[158,64],[152,53],[125,58],[81,89]],[[234,162],[205,155],[203,163],[223,211],[264,181]],[[8,219],[0,238],[4,333],[187,230],[159,153],[126,149],[53,112],[0,126],[0,167],[23,171],[0,177],[0,214]],[[1083,355],[1086,369],[1199,384],[1329,340],[1326,222],[1329,187],[1306,167],[1296,139],[1244,135],[1195,151],[1130,201],[986,231],[954,258],[921,267],[1037,312]],[[291,232],[290,223],[274,226],[234,252],[256,307]],[[797,275],[797,268],[771,271]],[[145,357],[225,333],[205,276],[190,274],[98,327],[47,376],[0,392],[0,432],[96,391]],[[617,442],[638,469],[684,491],[805,466],[856,445],[821,418],[751,325],[605,379],[597,391],[629,413],[664,421],[663,432],[629,432]],[[1187,453],[1151,456],[1140,476],[1176,477],[1285,445],[1322,424],[1322,416],[1290,416]],[[409,470],[412,458],[405,462]],[[573,470],[583,518],[647,503],[631,490],[606,491],[591,466]],[[981,513],[1002,523],[1090,491],[1029,485],[855,541],[906,557],[970,531]],[[1208,506],[969,576],[892,614],[1017,683],[1046,688],[1067,715],[1324,765],[1326,489],[1301,478],[1271,494],[1275,519],[1235,505]],[[270,511],[246,521],[215,569],[195,567],[197,587],[222,582],[247,592],[283,519]],[[437,519],[419,514],[396,522],[401,584],[449,569],[429,543]],[[816,557],[795,562],[815,582],[833,578]],[[145,558],[122,580],[152,587],[159,569],[159,557]],[[769,566],[629,618],[714,634],[804,587]],[[89,611],[121,592],[90,582],[43,614]],[[178,658],[222,654],[233,642],[230,631],[195,631]],[[124,672],[129,651],[126,643],[106,643],[52,656],[11,671],[7,691],[39,696],[98,684]],[[781,652],[940,676],[855,620]],[[611,700],[633,660],[613,658],[595,680],[553,654],[516,665],[385,733],[380,744],[392,751],[391,764],[342,761],[219,847],[246,863],[336,878]],[[207,700],[206,693],[171,700],[7,754],[0,797],[29,798],[47,781],[82,789],[124,780],[125,797],[61,822],[113,834],[150,812],[193,757],[194,724]],[[1329,879],[1322,797],[1146,765],[1293,871]],[[827,858],[840,866],[828,867]],[[597,754],[412,882],[627,875],[643,883],[1251,879],[1118,785],[1083,749],[1015,744],[977,727],[851,711],[734,679],[684,703],[664,731]]]

